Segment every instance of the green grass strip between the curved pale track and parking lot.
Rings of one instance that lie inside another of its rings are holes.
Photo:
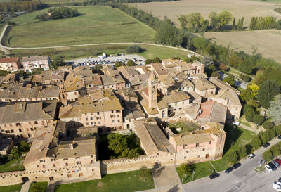
[[[126,53],[126,47],[132,44],[113,44],[113,45],[96,45],[96,46],[77,46],[77,47],[65,47],[55,49],[14,49],[11,51],[11,56],[34,56],[34,55],[48,55],[51,59],[54,56],[63,56],[65,60],[72,60],[74,58],[85,58],[89,56],[97,56],[102,53],[108,55],[116,53]],[[139,53],[145,58],[166,59],[171,57],[179,57],[181,59],[186,58],[186,55],[190,52],[182,51],[178,49],[172,49],[162,46],[154,45],[140,45],[145,49],[143,53]]]

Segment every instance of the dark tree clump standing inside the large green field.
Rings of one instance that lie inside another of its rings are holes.
[[[59,7],[59,8],[50,8],[47,13],[42,13],[41,15],[36,15],[35,19],[39,20],[55,20],[62,18],[72,18],[78,16],[79,13],[77,9],[69,7]]]

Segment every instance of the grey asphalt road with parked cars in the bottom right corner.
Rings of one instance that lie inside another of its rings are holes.
[[[273,146],[279,141],[280,139],[273,139],[270,141],[270,146]],[[216,179],[204,177],[184,184],[185,192],[275,191],[272,188],[272,184],[273,181],[277,181],[279,177],[281,177],[281,168],[271,173],[266,170],[263,172],[254,171],[254,168],[258,165],[259,158],[262,157],[263,152],[266,150],[267,149],[259,148],[259,150],[255,151],[256,157],[251,160],[249,158],[242,160],[242,166],[230,172],[230,174],[220,172],[221,176]]]

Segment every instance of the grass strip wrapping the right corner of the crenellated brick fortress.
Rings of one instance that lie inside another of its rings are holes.
[[[235,127],[232,124],[226,124],[224,130],[227,132],[227,134],[226,143],[223,150],[223,158],[216,161],[211,161],[217,172],[221,172],[230,167],[225,158],[225,155],[226,153],[228,153],[228,151],[237,150],[240,146],[245,146],[255,135],[253,132],[242,129],[241,127]],[[211,166],[210,162],[199,162],[194,164],[194,167],[195,174],[193,180],[207,177],[214,172],[214,167]],[[178,172],[178,167],[176,168],[176,170]],[[192,181],[192,174],[188,175],[186,179],[185,176],[183,176],[179,172],[178,176],[180,177],[181,181],[183,180],[184,184]]]

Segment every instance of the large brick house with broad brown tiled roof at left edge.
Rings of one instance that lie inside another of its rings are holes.
[[[46,127],[55,120],[57,101],[1,103],[1,133],[13,139],[32,138],[38,127]]]

